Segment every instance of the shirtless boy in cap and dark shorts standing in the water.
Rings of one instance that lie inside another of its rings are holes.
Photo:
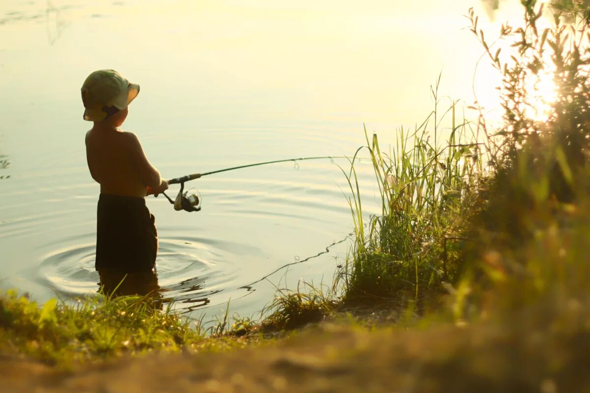
[[[88,168],[100,183],[96,270],[103,285],[113,272],[155,273],[158,234],[145,197],[168,189],[168,181],[150,164],[137,136],[118,128],[139,85],[117,71],[99,70],[81,91],[84,120],[94,122],[86,133]]]

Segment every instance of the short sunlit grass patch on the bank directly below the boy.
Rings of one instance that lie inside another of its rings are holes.
[[[153,350],[179,351],[203,339],[188,321],[145,300],[92,297],[71,305],[51,299],[40,308],[8,290],[0,294],[0,350],[67,365]]]

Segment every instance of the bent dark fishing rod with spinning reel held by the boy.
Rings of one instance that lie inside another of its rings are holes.
[[[181,185],[181,189],[178,191],[178,195],[176,195],[175,200],[172,200],[168,195],[166,195],[165,192],[162,192],[161,194],[163,194],[166,197],[166,199],[168,199],[169,202],[174,205],[174,210],[184,210],[185,212],[198,212],[199,210],[201,210],[201,199],[202,198],[200,196],[197,196],[196,194],[191,194],[190,196],[187,196],[188,191],[183,192],[184,191],[184,183],[186,181],[199,179],[203,176],[208,176],[209,174],[221,173],[221,172],[226,172],[226,171],[230,171],[230,170],[249,168],[249,167],[255,167],[255,166],[260,166],[260,165],[287,163],[290,161],[293,161],[297,165],[297,161],[326,160],[327,158],[330,158],[330,160],[333,160],[334,158],[346,158],[346,157],[345,156],[323,156],[323,157],[289,158],[287,160],[274,160],[274,161],[265,161],[263,163],[240,165],[237,167],[219,169],[219,170],[214,170],[214,171],[205,172],[205,173],[188,174],[186,176],[176,177],[175,179],[168,180],[168,184],[180,184]],[[154,196],[158,197],[158,194],[155,194]]]

